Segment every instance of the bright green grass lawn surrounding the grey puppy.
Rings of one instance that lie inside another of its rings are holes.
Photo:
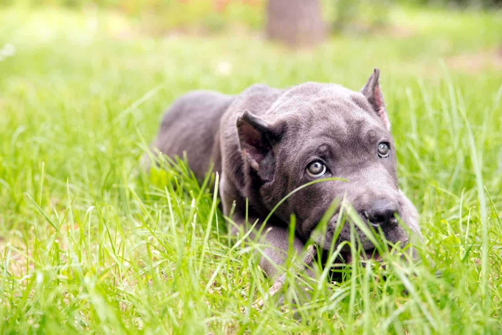
[[[502,14],[389,17],[401,30],[292,51],[256,32],[149,37],[115,12],[0,9],[0,48],[16,49],[0,61],[0,333],[500,333]],[[390,255],[311,283],[296,310],[250,308],[271,283],[260,246],[228,239],[213,179],[139,167],[162,111],[197,88],[359,89],[375,66],[422,261]]]

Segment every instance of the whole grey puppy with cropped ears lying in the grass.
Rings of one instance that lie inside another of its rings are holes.
[[[232,234],[247,229],[246,215],[247,222],[263,222],[281,199],[308,182],[346,180],[309,185],[277,208],[266,223],[267,257],[259,263],[269,277],[277,274],[290,250],[291,215],[296,216],[292,249],[301,253],[334,199],[350,203],[368,228],[381,229],[388,241],[406,245],[410,235],[421,238],[418,213],[399,189],[396,147],[379,77],[374,69],[358,92],[316,82],[288,89],[257,84],[237,95],[192,91],[165,113],[152,147],[171,157],[186,152],[199,181],[213,164],[220,175],[224,215],[235,206]],[[338,216],[339,210],[322,235],[326,250]],[[354,229],[361,248],[373,253],[370,239]],[[350,241],[348,224],[339,229],[334,246],[343,241]],[[342,250],[350,261],[350,248]]]

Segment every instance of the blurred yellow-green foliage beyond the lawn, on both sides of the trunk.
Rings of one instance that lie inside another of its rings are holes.
[[[324,20],[334,32],[364,34],[390,25],[396,4],[458,9],[500,8],[502,0],[321,0]],[[210,34],[235,29],[260,30],[267,0],[0,0],[0,6],[59,6],[82,10],[106,8],[128,15],[144,33]]]

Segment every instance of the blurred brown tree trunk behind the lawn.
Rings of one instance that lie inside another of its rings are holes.
[[[269,0],[267,36],[291,46],[313,45],[324,38],[319,0]]]

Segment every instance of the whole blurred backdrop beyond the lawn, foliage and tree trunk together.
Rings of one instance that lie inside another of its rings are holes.
[[[245,30],[299,46],[336,34],[413,34],[396,17],[397,7],[443,10],[448,20],[452,11],[499,10],[502,0],[0,0],[4,9],[20,4],[33,10],[109,11],[130,20],[135,32],[144,35]]]

